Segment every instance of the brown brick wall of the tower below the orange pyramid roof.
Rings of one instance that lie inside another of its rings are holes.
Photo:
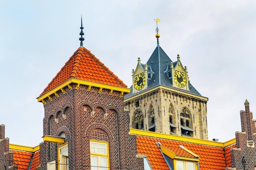
[[[124,111],[120,92],[80,85],[66,87],[65,93],[46,100],[44,135],[65,133],[68,142],[69,169],[90,170],[90,139],[109,142],[110,169],[143,169],[143,159],[136,158],[136,137],[129,135],[129,115]],[[132,142],[133,141],[133,142]],[[40,169],[57,160],[57,144],[40,144]],[[128,163],[129,161],[129,163]]]

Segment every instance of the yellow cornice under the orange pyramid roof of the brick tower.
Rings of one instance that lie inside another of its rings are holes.
[[[63,88],[66,87],[66,86],[68,86],[70,88],[71,83],[76,83],[76,88],[79,88],[79,85],[82,84],[82,85],[88,85],[89,87],[93,86],[93,87],[99,87],[101,89],[115,90],[115,91],[120,92],[120,94],[122,94],[124,92],[125,93],[130,93],[130,89],[127,88],[127,87],[119,87],[119,86],[107,85],[107,84],[102,84],[102,83],[97,83],[97,82],[92,82],[92,81],[87,81],[87,80],[81,80],[81,79],[77,79],[77,78],[70,78],[67,81],[58,85],[57,87],[54,87],[49,92],[46,92],[42,96],[39,96],[37,98],[37,101],[42,102],[43,100],[45,100],[45,98],[48,98],[52,94],[56,93],[58,90],[62,90],[62,92],[63,92],[63,90],[64,90]]]

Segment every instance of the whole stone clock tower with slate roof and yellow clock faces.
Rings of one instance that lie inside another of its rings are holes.
[[[131,92],[124,99],[130,128],[208,139],[207,101],[191,85],[187,67],[172,61],[159,46],[132,70]]]

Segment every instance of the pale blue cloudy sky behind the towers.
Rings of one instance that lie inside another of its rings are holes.
[[[146,63],[159,44],[172,61],[180,54],[189,80],[208,97],[209,139],[241,131],[250,102],[256,119],[255,0],[44,0],[0,5],[0,124],[11,144],[43,142],[43,103],[36,98],[83,46],[128,87],[138,57]]]

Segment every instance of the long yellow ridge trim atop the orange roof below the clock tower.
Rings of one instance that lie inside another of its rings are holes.
[[[236,142],[236,139],[231,139],[227,142],[216,142],[206,139],[197,139],[192,137],[185,137],[185,136],[177,136],[177,135],[169,135],[164,133],[157,133],[157,132],[150,132],[150,131],[144,131],[144,130],[138,130],[138,129],[130,129],[130,133],[136,134],[136,135],[142,135],[142,136],[148,136],[148,137],[157,137],[162,139],[170,139],[170,140],[177,140],[181,142],[189,142],[194,144],[202,144],[202,145],[209,145],[209,146],[217,146],[217,147],[225,147],[231,144],[234,144]]]

